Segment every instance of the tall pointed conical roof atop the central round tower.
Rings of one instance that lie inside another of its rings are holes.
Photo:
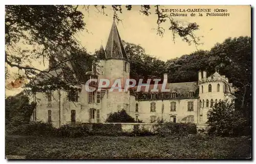
[[[113,21],[108,42],[105,48],[106,59],[124,59],[129,60],[124,50],[122,40],[117,30],[115,21]]]

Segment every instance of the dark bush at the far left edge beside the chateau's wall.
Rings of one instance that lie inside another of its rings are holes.
[[[6,124],[29,123],[30,117],[35,109],[36,103],[29,103],[29,98],[23,93],[9,96],[5,99]]]

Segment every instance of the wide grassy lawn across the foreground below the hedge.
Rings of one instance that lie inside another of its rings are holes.
[[[6,136],[6,155],[26,155],[27,159],[250,158],[250,151],[248,138]]]

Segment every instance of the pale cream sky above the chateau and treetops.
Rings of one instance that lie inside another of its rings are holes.
[[[113,23],[113,10],[111,6],[105,6],[105,14],[98,12],[94,6],[89,7],[88,10],[83,6],[79,6],[78,10],[84,14],[84,22],[86,23],[86,30],[78,32],[75,37],[81,42],[81,45],[86,47],[90,53],[95,49],[99,49],[102,44],[106,45],[111,26]],[[190,54],[197,49],[210,50],[216,43],[222,43],[226,38],[251,36],[251,13],[250,6],[160,6],[159,9],[226,9],[229,16],[190,16],[188,13],[186,17],[173,17],[175,20],[183,24],[188,22],[196,22],[199,25],[199,30],[195,32],[196,36],[201,37],[199,45],[188,45],[182,41],[179,36],[176,37],[175,43],[171,31],[167,30],[169,22],[163,24],[165,28],[164,36],[157,35],[157,15],[155,14],[155,7],[151,6],[151,14],[145,16],[139,12],[140,6],[132,6],[131,11],[127,11],[122,6],[122,14],[118,13],[122,22],[117,23],[117,28],[122,40],[130,43],[135,43],[142,46],[147,54],[157,57],[163,61],[181,57],[184,54]],[[167,13],[169,14],[169,13]],[[32,65],[40,70],[48,68],[46,65],[39,64],[34,61]],[[17,72],[17,69],[11,69],[11,72]],[[7,81],[12,81],[13,78]]]

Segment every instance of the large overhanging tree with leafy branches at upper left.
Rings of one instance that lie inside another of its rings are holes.
[[[81,10],[89,12],[91,7],[84,6],[79,10],[79,6],[26,6],[13,5],[6,6],[5,14],[5,61],[6,73],[8,68],[15,67],[21,70],[26,78],[30,80],[30,86],[44,86],[48,82],[59,89],[66,89],[67,86],[74,85],[72,81],[68,83],[63,79],[63,74],[74,74],[67,69],[70,61],[74,60],[77,51],[87,53],[86,49],[74,37],[79,31],[84,30],[86,24],[83,22],[83,14]],[[93,6],[99,13],[104,14],[106,6]],[[112,5],[113,18],[120,21],[118,13],[122,13],[123,6]],[[131,5],[125,6],[130,11]],[[155,8],[156,10],[152,9]],[[151,15],[154,10],[157,15],[157,34],[163,36],[164,28],[162,24],[169,22],[169,30],[174,38],[180,36],[188,44],[198,43],[198,38],[194,35],[194,31],[199,26],[196,23],[188,23],[182,25],[175,21],[172,17],[164,14],[159,10],[159,6],[141,5],[140,12],[146,16]],[[69,52],[74,56],[70,56]],[[88,57],[88,56],[86,56]],[[77,58],[75,58],[77,59]],[[39,70],[36,66],[32,66],[33,61],[40,61],[44,64],[46,61],[54,61],[55,67],[47,70]],[[151,58],[147,60],[152,60]],[[61,68],[58,75],[52,73],[57,68]],[[157,74],[157,73],[155,73]],[[8,77],[8,76],[7,76]],[[39,77],[44,80],[36,80]],[[47,78],[46,78],[47,77]],[[74,81],[73,81],[74,82]],[[53,88],[51,88],[53,89]]]

